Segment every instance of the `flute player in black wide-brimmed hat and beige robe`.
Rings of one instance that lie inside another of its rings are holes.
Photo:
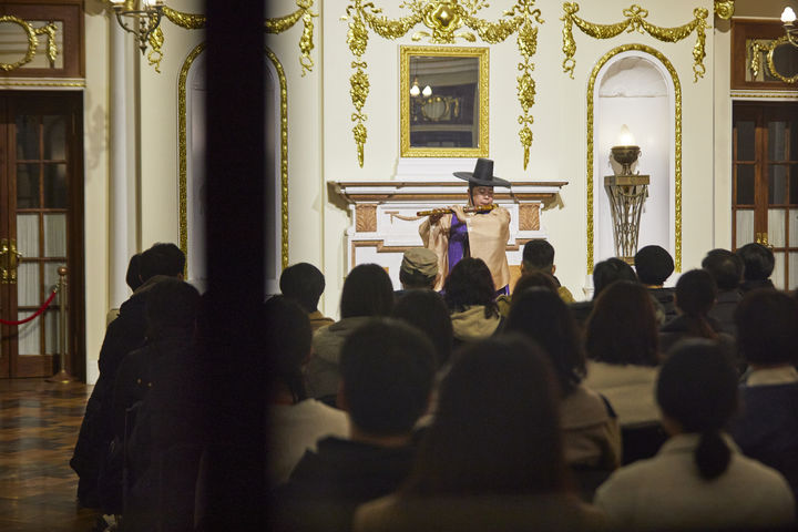
[[[468,181],[468,206],[481,207],[493,204],[493,187],[510,187],[505,180],[493,175],[493,161],[478,158],[473,172],[454,172]],[[507,243],[510,238],[510,213],[500,206],[483,213],[466,213],[462,205],[452,205],[452,214],[431,215],[419,227],[424,247],[434,252],[441,275],[436,290],[454,265],[463,257],[481,258],[488,265],[497,290],[507,294],[510,267],[507,260]]]

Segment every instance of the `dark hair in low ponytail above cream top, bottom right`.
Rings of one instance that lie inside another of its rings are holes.
[[[732,452],[720,431],[737,410],[737,370],[718,344],[692,339],[676,345],[659,371],[657,402],[685,432],[700,434],[695,461],[713,480],[728,468]]]

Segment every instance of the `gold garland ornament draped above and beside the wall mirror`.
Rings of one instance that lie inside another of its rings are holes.
[[[516,33],[516,42],[521,61],[518,64],[519,74],[515,79],[521,114],[518,117],[522,126],[519,131],[519,139],[523,147],[524,168],[529,163],[529,151],[532,145],[532,130],[529,127],[534,122],[531,109],[534,104],[535,82],[532,79],[534,63],[532,57],[538,49],[538,28],[534,25],[543,23],[540,9],[533,9],[534,0],[516,0],[515,4],[505,10],[503,17],[491,22],[478,17],[480,10],[489,7],[485,0],[407,0],[399,7],[409,10],[409,14],[392,20],[382,16],[382,9],[371,1],[351,0],[341,20],[349,21],[347,44],[355,57],[351,68],[355,72],[349,78],[349,95],[351,96],[355,112],[351,121],[355,122],[352,135],[357,144],[358,164],[364,165],[364,146],[368,137],[366,121],[368,115],[364,113],[364,105],[369,95],[370,82],[366,69],[368,63],[362,57],[369,40],[369,29],[383,39],[399,39],[406,35],[417,24],[424,24],[429,31],[422,30],[413,33],[412,40],[420,41],[429,38],[431,42],[439,44],[451,44],[456,39],[464,39],[475,42],[477,37],[489,44],[503,42],[510,35]],[[473,30],[460,31],[462,27]]]

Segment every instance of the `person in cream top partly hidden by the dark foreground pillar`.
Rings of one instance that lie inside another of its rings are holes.
[[[269,484],[288,480],[294,467],[316,441],[346,437],[346,413],[308,398],[305,367],[310,358],[310,323],[306,310],[293,301],[270,298],[264,306],[268,327],[264,354],[269,357]]]

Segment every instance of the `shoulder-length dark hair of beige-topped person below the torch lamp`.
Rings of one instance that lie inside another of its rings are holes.
[[[593,305],[585,325],[585,350],[607,364],[656,366],[658,329],[646,287],[631,280],[610,285]]]

